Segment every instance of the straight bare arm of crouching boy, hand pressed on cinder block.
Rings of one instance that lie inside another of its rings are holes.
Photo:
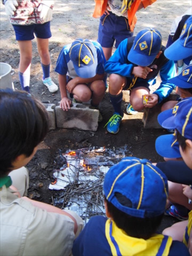
[[[68,99],[66,86],[67,86],[66,75],[59,74],[59,88],[61,93],[60,108],[68,111],[68,109],[70,109],[71,100]]]

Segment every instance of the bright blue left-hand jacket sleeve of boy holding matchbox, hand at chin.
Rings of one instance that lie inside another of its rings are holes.
[[[127,64],[127,39],[124,39],[105,64],[105,72],[120,76],[132,76],[132,64]]]

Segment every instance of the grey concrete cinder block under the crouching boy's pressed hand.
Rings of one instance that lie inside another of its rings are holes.
[[[55,108],[56,124],[58,128],[97,131],[99,110],[89,106],[73,103],[68,111],[63,111],[59,106]]]

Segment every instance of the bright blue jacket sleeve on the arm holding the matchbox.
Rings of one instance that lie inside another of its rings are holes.
[[[160,69],[159,74],[162,82],[159,88],[153,92],[159,97],[158,103],[160,103],[164,98],[168,97],[172,90],[175,88],[175,85],[168,81],[169,79],[176,76],[174,61],[167,61],[167,63],[165,63],[164,66]]]

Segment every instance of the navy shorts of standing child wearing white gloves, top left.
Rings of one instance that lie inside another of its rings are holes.
[[[12,25],[15,30],[15,36],[17,41],[29,41],[35,38],[47,39],[50,38],[50,21],[44,24],[33,24],[33,25]]]

